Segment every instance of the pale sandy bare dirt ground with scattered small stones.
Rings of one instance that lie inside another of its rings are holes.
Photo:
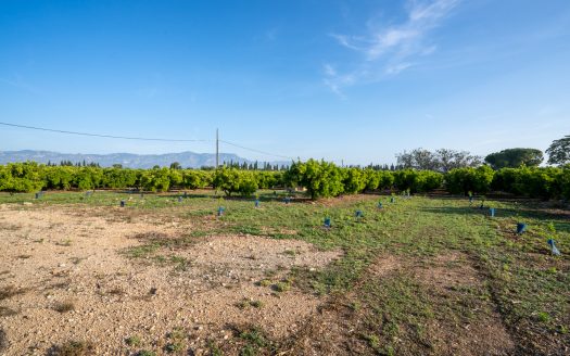
[[[0,354],[45,355],[53,345],[87,341],[97,354],[116,355],[134,349],[126,338],[140,336],[138,349],[157,349],[168,333],[183,330],[200,355],[208,342],[231,339],[235,325],[259,326],[281,339],[318,313],[322,300],[276,292],[274,283],[293,267],[321,268],[339,251],[211,236],[175,251],[183,265],[124,253],[142,237],[176,238],[192,224],[123,218],[118,208],[0,206]]]

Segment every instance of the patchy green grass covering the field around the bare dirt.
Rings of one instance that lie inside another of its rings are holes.
[[[378,353],[435,352],[429,340],[431,321],[448,326],[477,322],[481,315],[491,315],[490,310],[498,312],[501,321],[520,344],[519,353],[541,353],[541,345],[546,347],[554,339],[570,346],[568,213],[545,209],[537,202],[487,200],[485,205],[496,208],[496,216],[491,218],[486,208],[479,208],[478,202],[470,206],[467,199],[419,196],[398,198],[393,204],[385,195],[284,204],[282,193],[274,198],[273,191],[266,191],[259,196],[262,207],[254,208],[253,198],[223,199],[214,192],[201,191],[179,203],[178,195],[144,194],[140,199],[139,194],[96,192],[84,199],[83,193],[48,192],[34,200],[34,194],[0,193],[0,204],[33,204],[22,208],[78,204],[121,209],[118,202],[124,199],[127,206],[119,212],[154,209],[192,221],[207,221],[197,224],[194,230],[179,239],[141,238],[141,245],[125,251],[131,258],[170,263],[180,272],[191,265],[177,256],[176,250],[191,249],[210,234],[299,239],[320,250],[340,250],[342,257],[326,268],[295,268],[284,281],[268,276],[258,283],[273,285],[278,292],[299,289],[340,300],[365,320],[366,329],[359,330],[362,342]],[[377,208],[378,201],[383,203],[383,209]],[[218,206],[226,208],[221,217],[216,216]],[[355,211],[362,211],[364,217],[355,218]],[[331,218],[332,228],[322,228],[325,217]],[[522,236],[515,233],[519,221],[528,225],[528,232]],[[560,257],[550,255],[546,243],[550,238],[557,241]],[[441,292],[418,280],[414,268],[429,267],[438,256],[453,253],[467,257],[466,263],[477,270],[480,285],[460,285]],[[284,254],[294,257],[296,252],[288,250]],[[379,256],[393,256],[403,266],[378,279],[367,270]],[[352,300],[347,300],[346,292],[354,292]],[[403,349],[402,343],[394,340],[419,346]],[[258,348],[263,346],[248,339],[242,354]]]

